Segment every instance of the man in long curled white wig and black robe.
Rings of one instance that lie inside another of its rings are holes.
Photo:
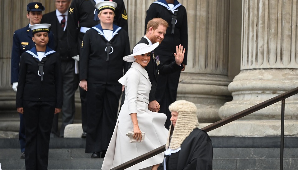
[[[171,126],[165,158],[158,170],[212,170],[212,144],[208,134],[198,128],[196,105],[179,100],[169,110]]]

